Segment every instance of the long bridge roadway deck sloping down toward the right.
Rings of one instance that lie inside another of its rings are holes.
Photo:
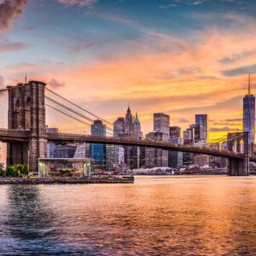
[[[0,141],[3,143],[9,142],[24,142],[28,141],[30,131],[28,130],[10,130],[0,129]],[[244,154],[236,153],[228,150],[218,150],[207,147],[195,147],[189,145],[178,145],[176,143],[155,142],[149,139],[137,140],[125,137],[99,137],[84,134],[72,133],[45,133],[45,138],[53,143],[100,143],[110,145],[137,146],[146,148],[160,148],[163,150],[180,151],[195,154],[207,154],[217,157],[225,157],[232,159],[242,159]],[[256,162],[256,157],[250,157],[250,161]]]

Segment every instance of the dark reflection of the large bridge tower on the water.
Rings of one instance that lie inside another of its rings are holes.
[[[61,233],[57,229],[57,216],[49,203],[40,196],[40,187],[14,185],[7,189],[9,201],[6,235],[11,238],[6,252],[13,247],[12,254],[51,253],[58,244]]]

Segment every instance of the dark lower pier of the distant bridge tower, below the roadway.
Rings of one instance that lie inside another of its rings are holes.
[[[228,165],[228,175],[247,176],[249,175],[249,158],[242,159],[230,158]]]

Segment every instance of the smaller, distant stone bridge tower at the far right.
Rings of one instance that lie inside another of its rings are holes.
[[[235,132],[228,134],[228,150],[244,154],[243,158],[230,158],[228,162],[228,175],[244,176],[249,175],[249,146],[248,132]]]

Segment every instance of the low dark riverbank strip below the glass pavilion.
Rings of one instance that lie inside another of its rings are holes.
[[[0,185],[7,184],[87,184],[133,183],[134,177],[0,177]]]

